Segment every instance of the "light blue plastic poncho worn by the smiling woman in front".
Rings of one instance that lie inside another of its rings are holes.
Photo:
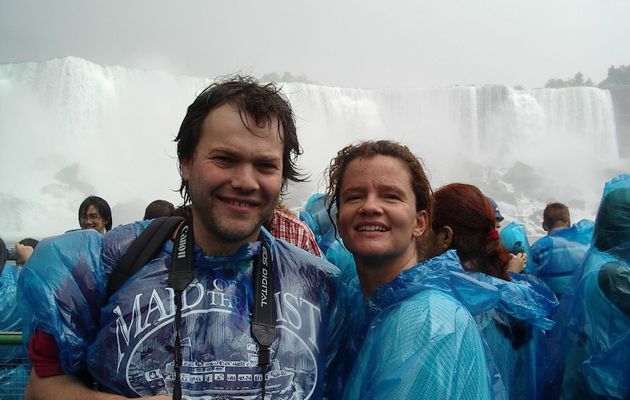
[[[403,271],[370,296],[364,325],[355,321],[355,340],[364,341],[349,346],[360,350],[344,398],[505,398],[471,314],[501,309],[549,327],[551,296],[465,273],[454,250]]]

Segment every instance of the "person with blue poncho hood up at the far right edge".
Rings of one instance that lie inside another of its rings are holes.
[[[562,399],[630,397],[630,175],[607,182],[577,281]]]

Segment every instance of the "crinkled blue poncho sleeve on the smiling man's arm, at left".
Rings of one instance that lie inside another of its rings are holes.
[[[73,231],[42,240],[19,280],[24,342],[35,331],[52,335],[64,372],[86,368],[104,300],[102,236]]]

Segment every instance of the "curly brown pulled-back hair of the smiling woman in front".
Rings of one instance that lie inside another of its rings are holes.
[[[433,211],[433,191],[422,164],[407,146],[391,140],[365,141],[357,145],[348,145],[339,150],[328,167],[328,189],[326,191],[326,195],[330,199],[328,215],[332,215],[332,209],[335,205],[339,209],[339,192],[348,164],[357,158],[377,155],[393,157],[407,165],[411,176],[411,188],[416,197],[416,211],[425,210],[430,220]]]

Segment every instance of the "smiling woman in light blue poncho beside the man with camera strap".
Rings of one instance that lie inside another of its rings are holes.
[[[349,145],[331,162],[329,179],[368,306],[367,326],[355,327],[357,336],[367,333],[344,398],[491,398],[473,317],[448,289],[432,287],[432,269],[418,265],[432,192],[417,158],[391,141]]]

